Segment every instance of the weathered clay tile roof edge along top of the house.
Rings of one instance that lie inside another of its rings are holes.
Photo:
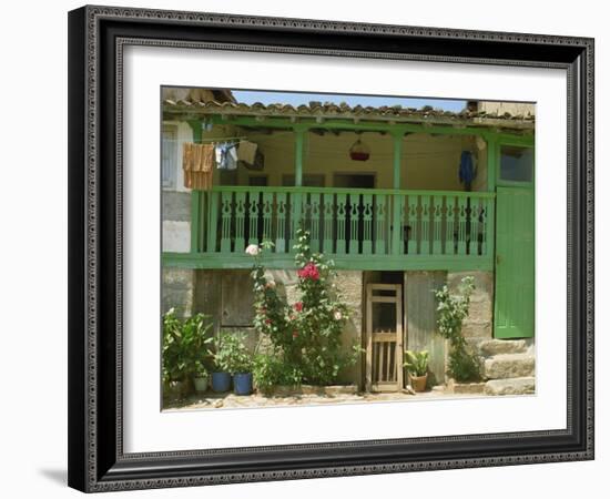
[[[469,126],[494,126],[507,129],[533,129],[535,116],[532,114],[511,115],[509,113],[496,114],[485,111],[451,112],[425,106],[421,109],[392,106],[350,106],[344,102],[309,102],[293,106],[291,104],[244,104],[235,102],[215,101],[171,101],[163,102],[163,110],[169,115],[237,115],[237,116],[276,116],[276,118],[317,118],[317,119],[344,119],[355,121],[383,121],[396,123],[430,123]]]

